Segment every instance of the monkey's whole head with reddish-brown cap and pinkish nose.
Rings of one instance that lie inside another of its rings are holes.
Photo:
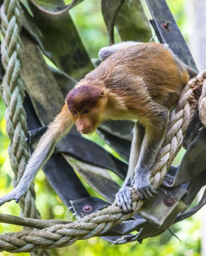
[[[103,120],[106,107],[105,93],[92,85],[81,85],[71,90],[66,103],[73,122],[81,134],[92,134]]]

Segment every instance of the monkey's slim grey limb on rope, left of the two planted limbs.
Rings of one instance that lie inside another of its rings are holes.
[[[145,128],[139,122],[136,122],[133,128],[133,139],[131,144],[128,173],[122,188],[119,189],[118,193],[116,193],[116,202],[125,213],[133,212],[131,201],[131,182],[134,178],[134,169],[139,158],[144,135]]]

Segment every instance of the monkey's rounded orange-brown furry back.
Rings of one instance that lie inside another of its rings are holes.
[[[93,72],[119,96],[141,96],[170,108],[177,100],[189,75],[183,63],[162,44],[145,43],[122,49],[108,57]]]

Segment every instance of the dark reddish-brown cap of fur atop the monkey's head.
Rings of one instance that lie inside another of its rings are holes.
[[[66,97],[70,111],[92,108],[100,97],[102,90],[96,86],[82,85],[71,90]]]

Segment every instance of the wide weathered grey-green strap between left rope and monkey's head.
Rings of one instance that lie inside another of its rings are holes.
[[[47,125],[61,111],[64,96],[38,46],[26,35],[21,35],[21,38],[23,42],[21,73],[26,91],[31,97],[41,124]]]

